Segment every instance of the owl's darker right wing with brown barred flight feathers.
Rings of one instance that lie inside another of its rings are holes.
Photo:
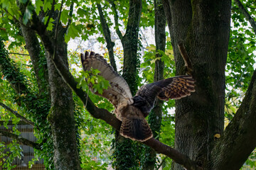
[[[189,76],[171,77],[142,86],[132,99],[133,105],[140,108],[144,116],[154,108],[156,97],[168,101],[190,96],[195,91],[195,80]]]

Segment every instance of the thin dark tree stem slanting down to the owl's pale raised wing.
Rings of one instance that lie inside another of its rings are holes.
[[[110,28],[107,26],[107,21],[105,19],[105,16],[102,11],[102,7],[100,4],[97,4],[97,9],[100,14],[100,23],[102,25],[102,30],[103,30],[103,35],[105,37],[105,40],[107,42],[107,50],[109,51],[109,56],[110,56],[110,64],[114,68],[114,71],[117,72],[117,64],[114,61],[114,42],[111,40],[111,35],[110,35]]]

